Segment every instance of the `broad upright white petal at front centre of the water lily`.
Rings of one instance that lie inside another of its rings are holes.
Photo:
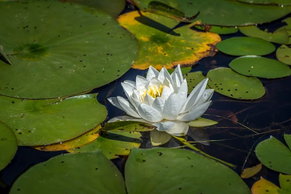
[[[171,94],[165,101],[164,108],[162,110],[162,117],[167,120],[175,120],[178,117],[182,107],[178,94]]]

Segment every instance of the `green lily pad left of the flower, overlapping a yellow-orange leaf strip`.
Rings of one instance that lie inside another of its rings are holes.
[[[13,129],[18,146],[63,142],[93,129],[106,118],[107,110],[96,96],[49,100],[0,96],[0,120]]]

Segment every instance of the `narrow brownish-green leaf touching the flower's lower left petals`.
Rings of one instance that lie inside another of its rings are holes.
[[[156,129],[155,126],[138,122],[138,121],[118,121],[113,123],[106,123],[105,127],[100,129],[101,131],[118,131],[118,132],[129,132],[129,131],[150,131]]]

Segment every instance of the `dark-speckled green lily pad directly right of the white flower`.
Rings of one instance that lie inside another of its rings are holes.
[[[236,99],[258,99],[266,93],[256,77],[246,77],[230,68],[219,67],[208,72],[208,85],[219,94]]]

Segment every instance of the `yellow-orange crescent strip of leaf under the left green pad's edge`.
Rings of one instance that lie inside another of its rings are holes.
[[[86,144],[89,144],[90,142],[93,142],[94,140],[99,137],[99,129],[101,128],[101,125],[98,125],[96,128],[89,130],[88,132],[85,132],[79,137],[76,137],[74,139],[71,139],[69,141],[51,144],[48,146],[33,146],[34,149],[38,149],[41,151],[60,151],[60,150],[66,150],[66,149],[73,149],[76,147],[81,147]]]

